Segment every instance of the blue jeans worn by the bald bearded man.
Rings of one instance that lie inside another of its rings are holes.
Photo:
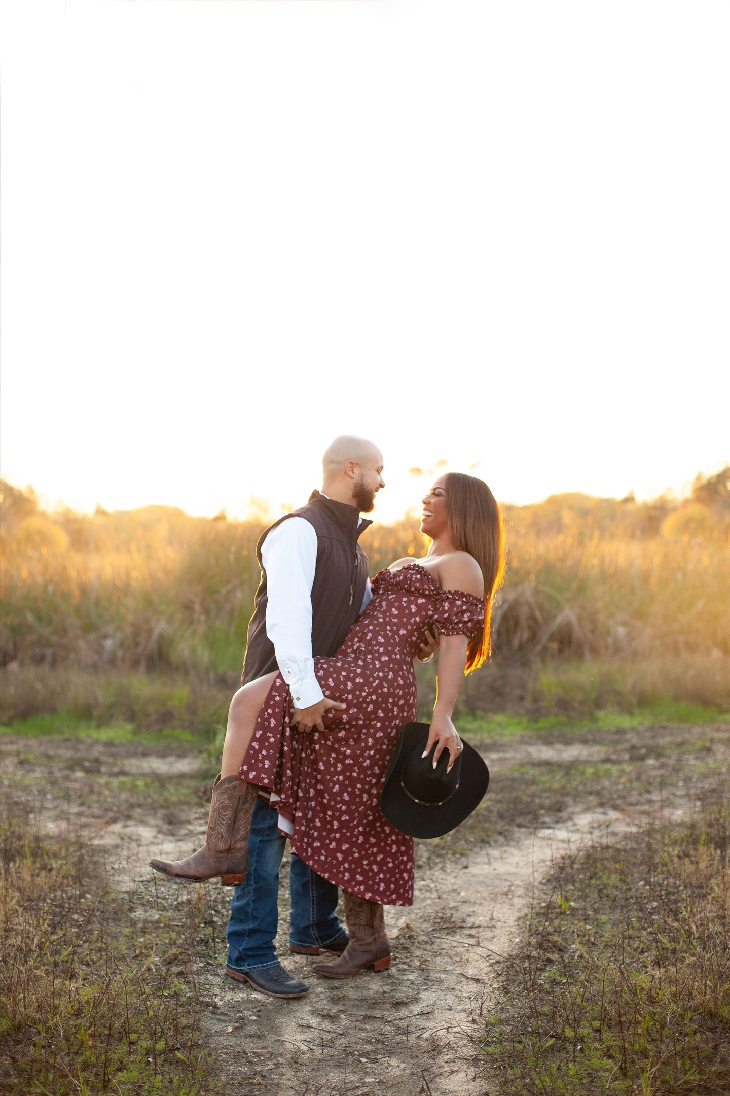
[[[248,836],[248,872],[231,899],[227,967],[262,970],[276,967],[274,940],[279,927],[279,868],[287,838],[279,833],[279,815],[256,801]],[[323,947],[346,933],[335,910],[338,891],[294,853],[291,855],[291,926],[289,943]]]

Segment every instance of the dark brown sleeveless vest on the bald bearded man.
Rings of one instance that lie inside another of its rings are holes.
[[[266,571],[262,567],[262,545],[277,525],[289,517],[305,517],[317,535],[316,570],[312,585],[312,654],[334,654],[360,614],[368,581],[368,557],[358,537],[372,522],[355,506],[326,499],[313,491],[300,510],[286,514],[270,525],[256,545],[262,579],[254,598],[254,615],[248,621],[246,657],[241,684],[277,670],[274,643],[266,635]]]

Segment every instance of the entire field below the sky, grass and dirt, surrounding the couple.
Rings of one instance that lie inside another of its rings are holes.
[[[386,975],[317,983],[285,932],[282,1009],[221,980],[225,890],[144,867],[205,825],[263,522],[2,484],[0,1093],[730,1092],[729,488],[507,507],[456,716],[489,795],[418,844]],[[373,573],[424,548],[364,541]]]

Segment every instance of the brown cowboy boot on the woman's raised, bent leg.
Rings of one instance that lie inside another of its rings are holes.
[[[248,833],[256,787],[237,776],[216,777],[206,843],[185,860],[150,860],[155,871],[182,882],[202,882],[220,876],[227,887],[242,883],[248,870]]]

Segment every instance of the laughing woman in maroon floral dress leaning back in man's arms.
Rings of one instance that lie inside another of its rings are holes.
[[[350,944],[318,973],[348,977],[383,969],[390,947],[383,903],[413,902],[414,842],[380,811],[380,792],[401,727],[416,719],[413,660],[424,628],[440,632],[437,699],[426,752],[443,750],[449,768],[461,750],[452,712],[464,673],[490,651],[491,603],[503,572],[499,507],[473,476],[450,472],[424,499],[421,560],[396,560],[372,583],[373,597],[332,658],[316,658],[325,697],[340,703],[324,732],[290,724],[293,705],[278,672],[236,694],[206,846],[178,864],[153,860],[166,875],[241,882],[257,795],[276,806],[280,829],[305,864],[345,892]]]

